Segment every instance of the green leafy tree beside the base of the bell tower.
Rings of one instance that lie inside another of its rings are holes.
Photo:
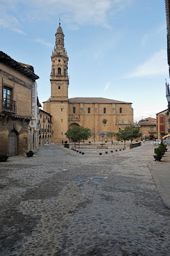
[[[73,142],[79,141],[80,143],[81,140],[88,140],[91,136],[91,130],[82,126],[73,126],[66,131],[65,135],[69,140],[73,140]]]

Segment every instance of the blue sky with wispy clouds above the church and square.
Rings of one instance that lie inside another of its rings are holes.
[[[68,97],[132,102],[134,122],[167,109],[166,10],[161,0],[0,0],[0,50],[33,65],[50,97],[55,33],[65,34]]]

